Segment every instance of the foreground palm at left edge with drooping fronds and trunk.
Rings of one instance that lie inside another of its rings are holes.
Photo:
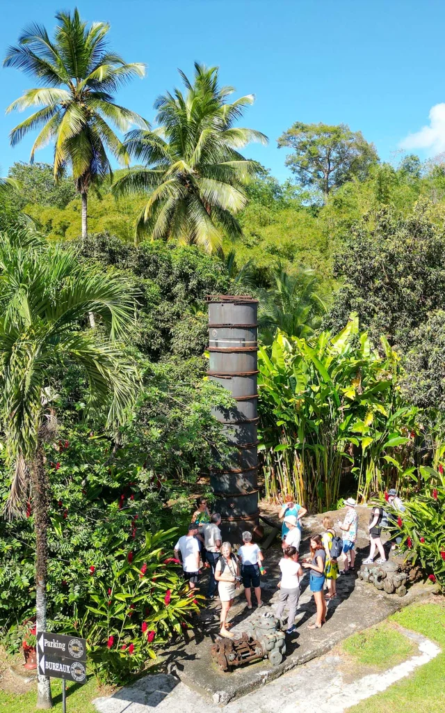
[[[73,250],[46,247],[18,228],[0,235],[0,427],[12,482],[6,513],[31,498],[36,532],[37,631],[46,629],[50,487],[45,442],[56,438],[56,370],[75,364],[89,385],[88,407],[122,419],[137,373],[115,344],[132,319],[131,290],[121,277],[79,264]],[[83,329],[94,312],[109,336]],[[47,677],[38,677],[38,707],[51,707]]]

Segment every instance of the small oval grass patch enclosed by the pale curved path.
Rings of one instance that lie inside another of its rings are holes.
[[[363,666],[384,671],[412,656],[414,646],[385,622],[346,639],[342,650]]]

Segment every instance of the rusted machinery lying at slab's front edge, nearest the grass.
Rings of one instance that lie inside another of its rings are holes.
[[[236,639],[217,639],[211,647],[211,655],[221,670],[268,659],[273,666],[281,664],[286,653],[286,638],[278,629],[280,622],[272,614],[253,617],[248,630]]]

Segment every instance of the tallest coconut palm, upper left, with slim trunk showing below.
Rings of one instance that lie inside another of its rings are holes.
[[[120,131],[135,124],[147,128],[138,114],[114,103],[122,84],[145,75],[145,65],[127,64],[108,49],[110,25],[95,22],[90,27],[78,9],[59,12],[53,40],[38,24],[26,28],[17,46],[9,47],[5,67],[15,67],[35,77],[39,88],[28,89],[6,109],[23,111],[39,106],[10,134],[16,145],[30,131],[41,128],[31,149],[31,163],[39,148],[54,143],[54,178],[68,168],[82,198],[82,237],[88,231],[88,189],[96,181],[112,176],[108,153],[122,165],[128,155],[108,121]]]

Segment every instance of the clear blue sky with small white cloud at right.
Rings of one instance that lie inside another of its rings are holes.
[[[55,12],[66,6],[4,1],[2,55],[28,22],[51,32]],[[394,160],[412,133],[406,145],[422,158],[445,150],[443,1],[80,0],[78,7],[85,19],[110,22],[111,45],[127,61],[147,63],[146,78],[120,91],[117,102],[149,120],[156,96],[179,83],[178,67],[192,74],[194,60],[219,65],[221,81],[237,95],[255,93],[244,124],[266,133],[270,144],[244,153],[281,180],[289,174],[276,139],[296,120],[347,123],[384,160]],[[33,142],[9,146],[8,133],[23,115],[5,116],[3,108],[31,86],[18,71],[0,70],[3,175],[15,160],[28,160]],[[36,158],[51,157],[48,148]]]

